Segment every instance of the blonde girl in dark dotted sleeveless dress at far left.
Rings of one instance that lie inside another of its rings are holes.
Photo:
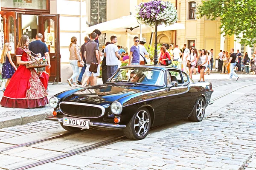
[[[2,67],[2,79],[7,79],[5,87],[2,87],[2,91],[5,91],[7,85],[9,84],[13,74],[17,70],[15,64],[12,62],[12,57],[9,51],[12,51],[12,46],[10,42],[6,42],[3,45],[3,51],[1,55],[1,63],[3,64]]]

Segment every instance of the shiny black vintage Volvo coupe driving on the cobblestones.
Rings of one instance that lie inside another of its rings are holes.
[[[212,95],[210,82],[193,82],[176,68],[125,66],[103,85],[74,88],[49,99],[47,120],[69,131],[123,129],[129,139],[144,139],[151,127],[188,117],[199,122]]]

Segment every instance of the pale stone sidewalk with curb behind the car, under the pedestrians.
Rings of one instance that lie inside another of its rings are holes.
[[[195,82],[200,78],[200,74],[192,75]],[[248,74],[239,74],[239,81],[242,79],[256,78],[256,75]],[[212,82],[213,85],[220,84],[220,79],[227,79],[229,75],[219,74],[212,72],[210,75],[205,75],[205,80]],[[228,81],[228,80],[227,80]],[[98,78],[97,84],[102,84],[102,78]],[[49,95],[48,99],[55,94],[58,94],[62,91],[72,89],[68,83],[55,83],[52,85],[52,82],[49,83]],[[0,91],[0,100],[3,97],[3,92]],[[18,108],[4,108],[0,106],[0,128],[11,127],[15,125],[24,125],[30,122],[37,122],[44,120],[47,116],[52,115],[53,109],[48,105],[40,108],[31,108],[31,109],[18,109]]]

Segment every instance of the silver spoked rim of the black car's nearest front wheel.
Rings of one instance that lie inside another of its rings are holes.
[[[149,128],[149,115],[146,111],[139,111],[134,120],[134,130],[137,136],[144,136]]]

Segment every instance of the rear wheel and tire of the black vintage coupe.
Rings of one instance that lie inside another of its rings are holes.
[[[205,114],[205,100],[202,96],[198,97],[195,102],[193,113],[188,119],[192,122],[201,122]]]

